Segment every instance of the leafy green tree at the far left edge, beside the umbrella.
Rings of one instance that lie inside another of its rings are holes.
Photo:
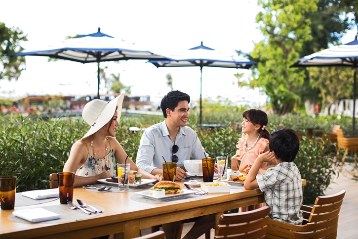
[[[24,41],[27,38],[23,31],[17,27],[8,28],[5,23],[0,22],[0,80],[19,78],[25,57],[10,55],[22,51],[24,48],[20,44]]]

